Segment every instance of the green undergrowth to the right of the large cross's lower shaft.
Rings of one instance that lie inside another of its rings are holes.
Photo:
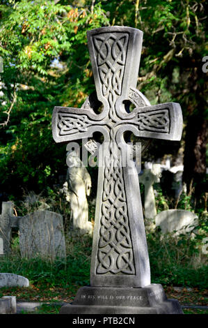
[[[152,283],[207,288],[207,257],[201,253],[200,238],[157,230],[147,234],[147,245]]]

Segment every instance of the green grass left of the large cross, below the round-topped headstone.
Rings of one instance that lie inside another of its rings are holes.
[[[88,285],[90,277],[90,253],[92,239],[88,236],[76,240],[66,239],[67,258],[50,259],[20,258],[15,251],[13,256],[0,259],[0,271],[20,274],[29,278],[33,285],[60,286],[68,288],[76,285]]]

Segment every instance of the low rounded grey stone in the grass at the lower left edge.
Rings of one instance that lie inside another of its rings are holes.
[[[0,273],[0,288],[1,287],[29,287],[29,280],[18,274]]]

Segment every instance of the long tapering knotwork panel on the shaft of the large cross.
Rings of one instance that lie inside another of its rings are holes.
[[[109,154],[104,158],[97,274],[135,274],[121,154],[113,131],[110,135]]]

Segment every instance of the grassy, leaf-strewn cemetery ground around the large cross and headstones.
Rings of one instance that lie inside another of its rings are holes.
[[[22,213],[26,214],[26,211],[35,210],[42,202],[47,202],[51,210],[63,215],[67,230],[66,218],[70,216],[68,205],[55,196],[54,200],[50,200],[51,203],[40,197],[31,208],[22,207]],[[160,195],[157,209],[162,210],[165,201]],[[167,204],[170,206],[170,202]],[[189,205],[186,200],[186,207]],[[16,209],[17,214],[22,214],[18,207]],[[95,204],[90,202],[89,218],[92,222],[94,213]],[[199,226],[191,234],[180,234],[177,237],[171,233],[161,234],[159,228],[151,230],[145,221],[151,281],[163,286],[168,299],[177,299],[184,314],[208,313],[207,255],[202,253],[202,238],[206,236],[207,228],[205,217],[199,215],[199,218]],[[13,232],[11,254],[1,256],[0,272],[25,276],[30,285],[28,288],[1,288],[0,297],[16,296],[17,306],[19,302],[33,302],[33,311],[22,308],[19,311],[22,314],[58,314],[63,304],[73,301],[81,286],[90,283],[92,242],[92,237],[88,235],[69,237],[65,234],[65,259],[41,259],[38,256],[27,259],[21,258],[19,236]]]

